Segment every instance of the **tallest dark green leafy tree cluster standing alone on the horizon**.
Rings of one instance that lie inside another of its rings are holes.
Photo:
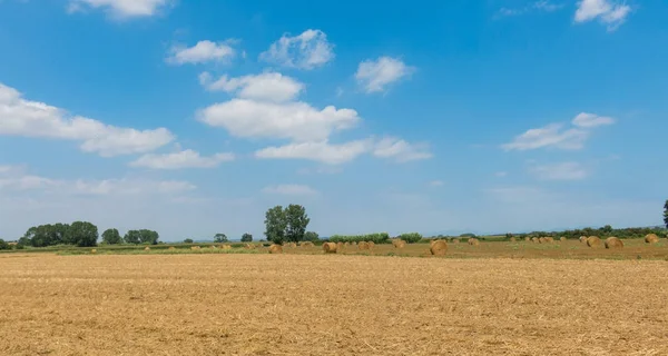
[[[299,243],[304,240],[306,227],[311,219],[301,205],[291,204],[283,209],[275,206],[265,215],[265,236],[274,244]]]

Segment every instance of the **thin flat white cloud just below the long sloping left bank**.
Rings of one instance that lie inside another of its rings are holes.
[[[222,162],[232,161],[233,154],[216,154],[212,157],[202,157],[199,152],[191,149],[166,154],[166,155],[144,155],[137,160],[130,162],[132,167],[146,167],[153,169],[183,169],[183,168],[214,168]]]

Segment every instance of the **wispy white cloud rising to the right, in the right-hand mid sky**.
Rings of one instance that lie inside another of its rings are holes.
[[[517,136],[511,142],[501,147],[509,150],[531,150],[538,148],[557,148],[564,150],[578,150],[584,147],[590,137],[591,129],[611,125],[615,119],[601,117],[595,113],[581,112],[572,119],[573,127],[563,123],[550,123],[548,126],[530,129]]]

